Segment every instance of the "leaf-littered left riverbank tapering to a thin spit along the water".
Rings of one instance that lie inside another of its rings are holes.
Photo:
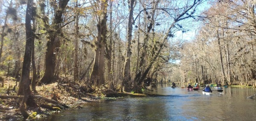
[[[17,121],[23,120],[23,116],[19,111],[22,97],[17,98],[18,84],[14,78],[3,77],[3,83],[0,82],[0,121]],[[3,85],[3,87],[2,87]],[[29,113],[28,119],[39,119],[51,115],[54,112],[59,112],[64,109],[73,108],[80,109],[82,105],[90,101],[101,101],[108,97],[122,98],[122,97],[145,97],[145,96],[163,96],[163,95],[150,95],[150,94],[132,94],[121,93],[109,89],[96,89],[91,90],[87,86],[81,86],[75,83],[53,83],[48,85],[37,86],[37,95],[44,98],[35,98],[38,107],[26,107]],[[33,92],[32,92],[33,93]],[[11,98],[11,96],[16,98]],[[7,98],[3,98],[7,97]],[[10,97],[10,98],[8,98]],[[47,100],[50,100],[47,101]],[[63,107],[52,103],[58,101],[64,104]],[[54,101],[53,101],[54,102]]]

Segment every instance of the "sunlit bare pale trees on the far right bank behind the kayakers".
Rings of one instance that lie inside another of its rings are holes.
[[[256,87],[256,3],[214,0],[195,39],[181,50],[183,80]]]

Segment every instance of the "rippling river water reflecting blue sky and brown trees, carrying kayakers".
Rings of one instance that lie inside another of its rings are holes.
[[[88,102],[82,109],[68,109],[48,117],[47,121],[256,121],[256,89],[224,88],[203,95],[202,90],[188,91],[158,84],[154,91],[166,96],[121,98]],[[201,87],[203,88],[203,87]],[[215,90],[212,87],[212,90]]]

